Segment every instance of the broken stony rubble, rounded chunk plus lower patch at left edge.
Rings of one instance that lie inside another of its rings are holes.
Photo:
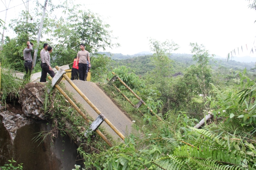
[[[0,103],[0,120],[9,132],[12,142],[16,131],[25,124],[31,124],[36,120],[44,120],[44,88],[45,85],[39,82],[28,83],[20,92],[19,103],[22,106],[22,113],[13,113],[12,110],[2,106]],[[5,111],[5,110],[9,111]],[[14,109],[15,110],[15,109]]]

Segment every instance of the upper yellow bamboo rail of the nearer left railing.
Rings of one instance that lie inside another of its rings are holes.
[[[58,66],[56,66],[55,68],[56,68],[58,71],[60,70],[60,68],[59,68]],[[92,107],[92,109],[95,110],[98,115],[100,115],[100,114],[101,114],[100,110],[97,109],[96,106],[84,95],[84,93],[83,93],[80,89],[78,89],[78,88],[76,87],[76,85],[68,78],[68,76],[67,76],[66,74],[63,74],[63,77],[64,77],[64,78],[68,81],[68,83],[77,91],[77,93],[78,93],[81,97],[83,97],[83,99]],[[124,135],[123,135],[120,131],[118,131],[118,129],[116,129],[116,127],[115,127],[107,118],[105,118],[104,121],[108,124],[108,126],[109,126],[111,129],[113,129],[113,131],[116,132],[116,134],[117,134],[121,139],[124,140]]]

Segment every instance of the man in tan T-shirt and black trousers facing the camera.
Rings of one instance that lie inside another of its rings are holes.
[[[77,53],[77,58],[76,58],[76,67],[77,67],[77,65],[79,67],[79,69],[78,69],[79,70],[79,80],[83,80],[83,81],[85,81],[84,77],[85,77],[85,73],[87,70],[87,61],[89,62],[89,67],[91,67],[90,54],[84,48],[85,48],[84,44],[80,44],[81,51],[79,51]]]

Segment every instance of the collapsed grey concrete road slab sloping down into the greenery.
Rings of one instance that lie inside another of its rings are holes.
[[[73,80],[76,86],[84,93],[84,95],[100,110],[100,112],[108,118],[108,120],[126,137],[131,133],[132,121],[112,102],[112,100],[93,82]],[[82,104],[87,113],[94,120],[98,114],[91,106],[76,92],[76,90],[64,81],[66,88],[73,93],[73,98],[76,102]],[[75,101],[74,101],[75,102]],[[75,102],[75,103],[76,103]],[[122,139],[113,131],[108,124],[103,122],[101,127],[105,127],[106,131],[116,140]]]

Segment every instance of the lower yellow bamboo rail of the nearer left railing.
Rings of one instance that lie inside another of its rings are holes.
[[[51,80],[52,77],[51,76],[48,76],[48,79]],[[60,93],[68,100],[68,102],[74,107],[74,109],[76,109],[76,111],[86,120],[86,122],[90,123],[90,120],[86,117],[86,115],[83,113],[82,110],[80,110],[76,104],[68,97],[68,95],[65,93],[64,90],[61,89],[61,87],[56,84],[55,85],[56,89],[58,89],[60,91]],[[106,138],[106,136],[99,130],[99,129],[96,129],[95,130],[99,135],[100,137],[108,144],[108,146],[112,147],[112,143]]]

